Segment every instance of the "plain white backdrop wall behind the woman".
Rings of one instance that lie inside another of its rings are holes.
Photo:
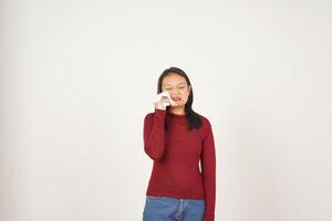
[[[163,70],[212,124],[216,221],[332,220],[331,1],[2,0],[2,221],[142,220]]]

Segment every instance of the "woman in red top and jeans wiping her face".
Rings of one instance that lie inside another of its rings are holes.
[[[144,151],[154,160],[146,190],[144,221],[214,221],[216,155],[209,120],[193,110],[194,93],[187,74],[165,70],[157,93],[168,91],[177,105],[154,103],[144,118]],[[199,170],[199,160],[201,171]]]

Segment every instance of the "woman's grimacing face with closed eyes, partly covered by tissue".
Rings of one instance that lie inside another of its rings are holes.
[[[190,85],[187,85],[185,77],[172,73],[163,78],[162,91],[168,91],[177,106],[184,106],[188,101]]]

